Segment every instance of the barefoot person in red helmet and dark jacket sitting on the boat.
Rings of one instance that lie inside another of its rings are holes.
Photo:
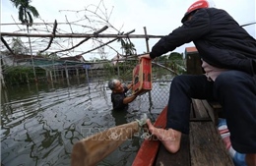
[[[206,74],[176,76],[170,86],[166,129],[150,132],[172,153],[181,134],[189,133],[191,98],[218,100],[224,109],[232,147],[244,153],[248,166],[256,165],[256,40],[224,10],[206,0],[192,4],[182,26],[160,38],[150,54],[155,59],[193,41]],[[140,58],[141,58],[140,57]]]

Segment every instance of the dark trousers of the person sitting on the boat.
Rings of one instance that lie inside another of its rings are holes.
[[[166,128],[189,133],[191,98],[218,100],[233,148],[241,153],[256,153],[255,76],[227,71],[215,82],[209,82],[204,75],[175,77],[169,91]]]

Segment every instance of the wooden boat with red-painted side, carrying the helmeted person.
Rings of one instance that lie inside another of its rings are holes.
[[[190,134],[182,135],[180,149],[169,153],[160,140],[145,139],[139,149],[133,166],[232,166],[233,162],[225,149],[223,139],[216,126],[214,111],[220,109],[216,104],[206,100],[193,99],[190,117]],[[156,127],[165,127],[165,107],[157,121]],[[212,116],[212,117],[211,117]]]

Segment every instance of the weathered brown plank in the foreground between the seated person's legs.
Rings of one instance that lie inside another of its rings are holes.
[[[191,166],[233,166],[213,122],[190,123]]]

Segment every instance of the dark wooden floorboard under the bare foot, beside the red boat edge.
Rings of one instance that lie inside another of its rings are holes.
[[[156,166],[187,166],[190,165],[189,157],[189,137],[182,135],[180,149],[178,152],[169,153],[165,147],[160,144],[160,151],[157,157]]]

